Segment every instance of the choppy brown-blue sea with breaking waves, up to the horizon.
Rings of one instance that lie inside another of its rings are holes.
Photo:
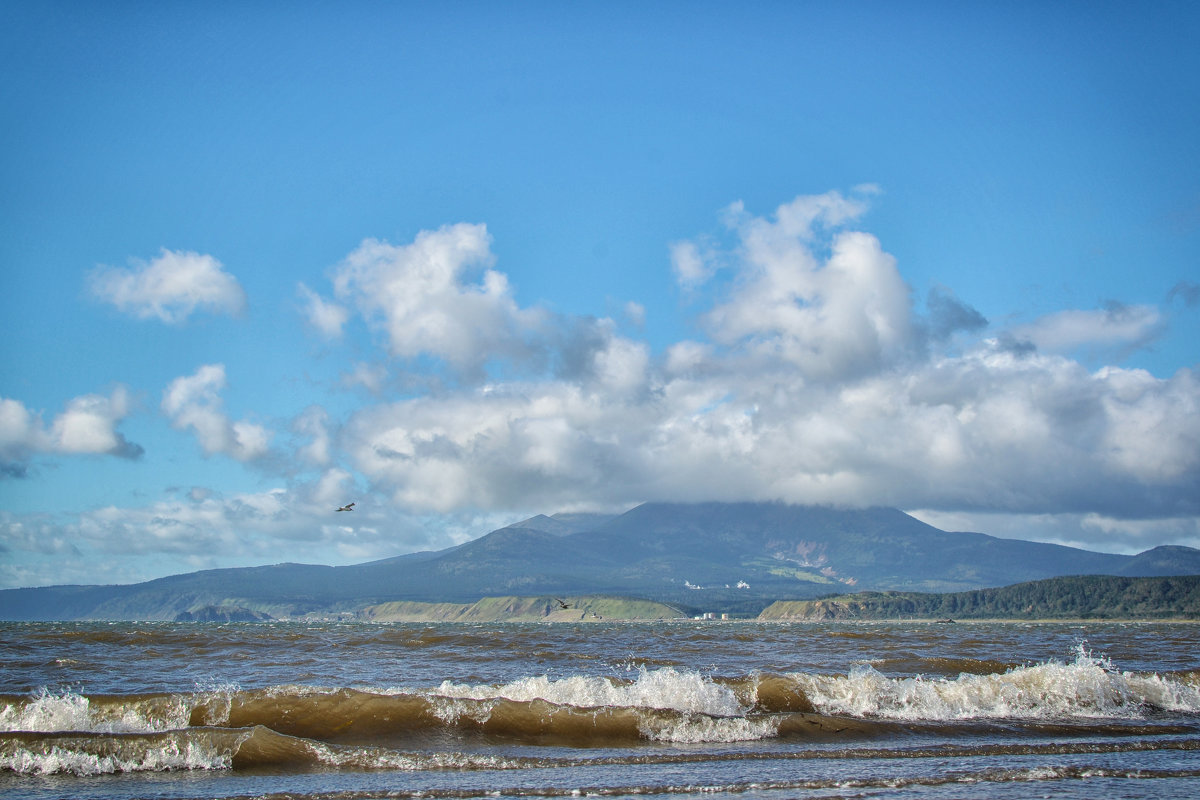
[[[1198,798],[1200,626],[0,622],[0,796]]]

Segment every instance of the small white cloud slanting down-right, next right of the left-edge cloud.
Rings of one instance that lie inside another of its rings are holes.
[[[180,431],[191,428],[206,456],[226,455],[252,461],[268,453],[271,433],[245,420],[226,416],[221,391],[226,387],[223,363],[202,366],[192,375],[176,378],[162,396],[162,411]]]

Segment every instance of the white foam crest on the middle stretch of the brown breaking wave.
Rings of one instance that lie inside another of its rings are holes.
[[[642,669],[637,680],[620,684],[607,678],[576,675],[554,680],[547,675],[523,678],[503,686],[443,682],[433,694],[443,698],[541,699],[556,705],[578,708],[644,708],[695,711],[709,716],[742,716],[746,708],[733,691],[714,684],[697,672]]]

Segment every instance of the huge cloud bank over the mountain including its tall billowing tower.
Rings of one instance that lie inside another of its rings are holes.
[[[654,356],[611,321],[575,320],[551,378],[354,414],[353,465],[432,511],[778,499],[1200,512],[1196,377],[1090,371],[1052,347],[1056,325],[1060,344],[1129,341],[1152,313],[1110,307],[1086,336],[1067,336],[1068,315],[971,339],[983,315],[940,289],[922,318],[895,259],[851,229],[862,211],[836,193],[769,217],[732,206],[707,341]],[[958,333],[953,353],[936,347]]]

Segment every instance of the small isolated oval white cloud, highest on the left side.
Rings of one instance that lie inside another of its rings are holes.
[[[182,323],[197,309],[240,314],[246,307],[246,293],[221,261],[185,251],[163,248],[130,269],[97,267],[89,285],[95,297],[138,319]]]

